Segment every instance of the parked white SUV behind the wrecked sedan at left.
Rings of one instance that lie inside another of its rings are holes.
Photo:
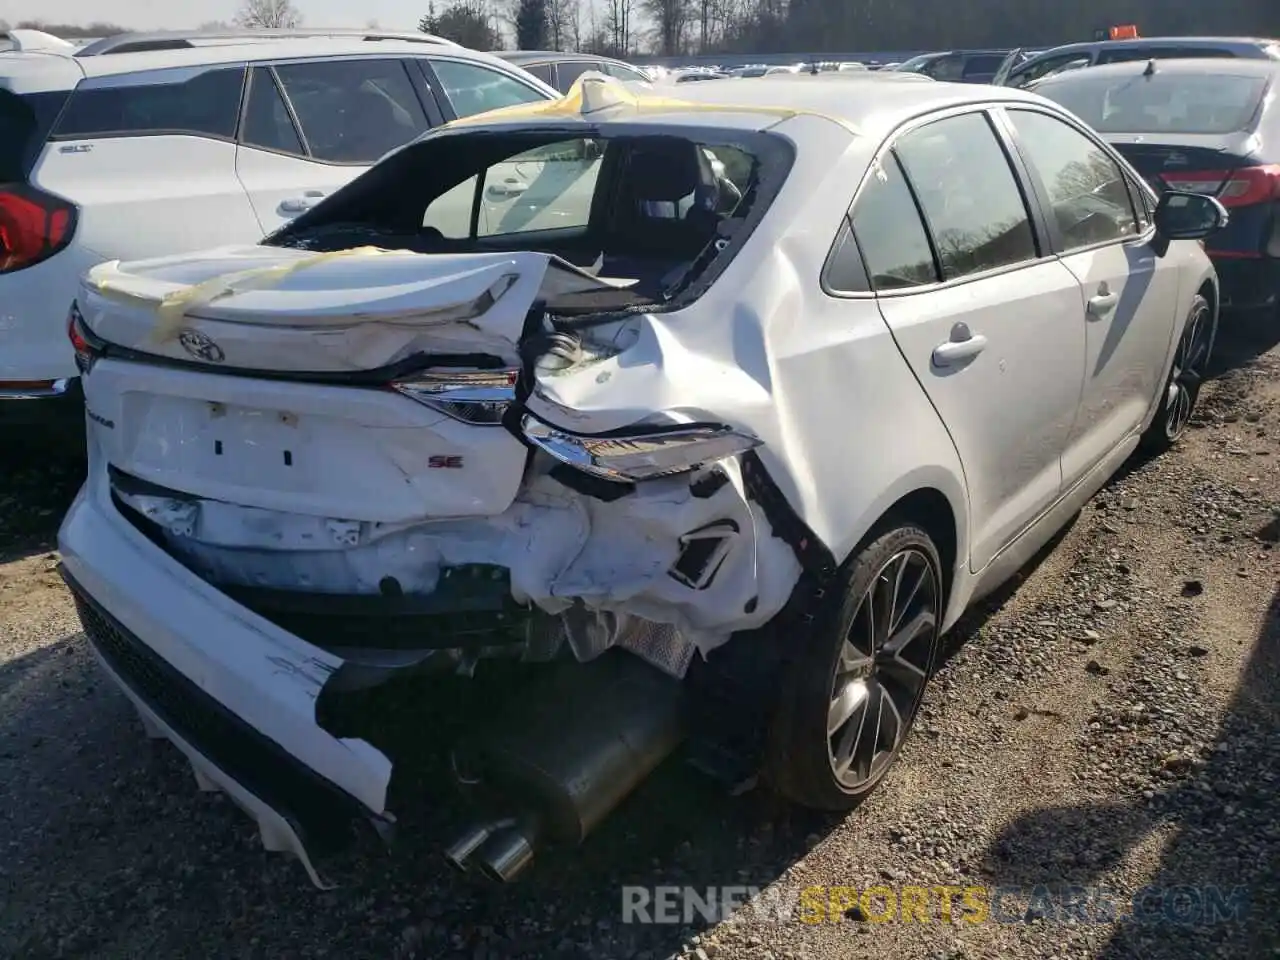
[[[95,264],[253,243],[431,127],[558,96],[424,41],[0,52],[0,424],[79,420],[65,317]]]

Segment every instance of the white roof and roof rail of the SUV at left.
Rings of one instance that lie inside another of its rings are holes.
[[[475,60],[509,69],[504,60],[457,46],[419,44],[404,40],[366,41],[360,38],[292,37],[247,42],[212,44],[210,46],[182,47],[177,50],[145,50],[110,56],[70,56],[63,52],[31,51],[0,52],[0,83],[9,76],[35,76],[44,72],[52,77],[73,78],[64,88],[74,86],[81,77],[113,77],[122,73],[163,70],[180,67],[253,63],[259,60],[311,59],[330,56],[424,56],[456,60]],[[51,63],[19,63],[38,58]],[[44,87],[56,90],[55,86]]]

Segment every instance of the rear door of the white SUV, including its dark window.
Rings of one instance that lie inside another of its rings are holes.
[[[253,67],[236,172],[270,233],[430,123],[403,60]]]

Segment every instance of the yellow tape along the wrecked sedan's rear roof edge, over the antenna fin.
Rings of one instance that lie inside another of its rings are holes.
[[[573,86],[559,100],[535,100],[531,104],[513,104],[488,110],[483,114],[462,116],[447,124],[463,127],[474,123],[500,123],[503,120],[582,118],[593,114],[605,119],[614,113],[658,114],[658,113],[717,113],[717,114],[765,114],[786,120],[792,116],[819,116],[823,120],[840,124],[850,133],[860,133],[854,123],[818,110],[804,110],[791,106],[762,106],[758,104],[700,104],[692,100],[664,97],[641,93],[628,88],[622,81],[603,74],[585,73],[573,81]]]

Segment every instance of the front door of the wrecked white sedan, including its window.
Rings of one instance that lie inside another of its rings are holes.
[[[1178,265],[1151,247],[1140,189],[1083,127],[1036,109],[1006,113],[1048,233],[1082,284],[1071,323],[1085,330],[1080,411],[1066,451],[1068,485],[1137,431],[1164,378],[1179,303]],[[1140,198],[1139,198],[1140,200]]]

